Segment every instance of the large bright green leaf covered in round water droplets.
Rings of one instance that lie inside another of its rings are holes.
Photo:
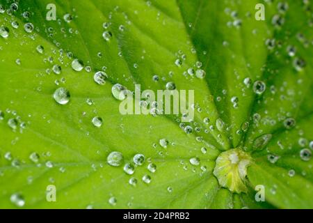
[[[0,208],[313,208],[310,3],[262,1],[265,21],[255,0],[13,3],[0,1]],[[169,82],[194,90],[193,121],[122,115],[111,92]],[[59,88],[70,93],[65,105]],[[234,148],[242,155],[216,162]],[[118,167],[107,162],[113,151]],[[241,157],[251,161],[244,169]],[[232,168],[221,185],[220,165]]]

